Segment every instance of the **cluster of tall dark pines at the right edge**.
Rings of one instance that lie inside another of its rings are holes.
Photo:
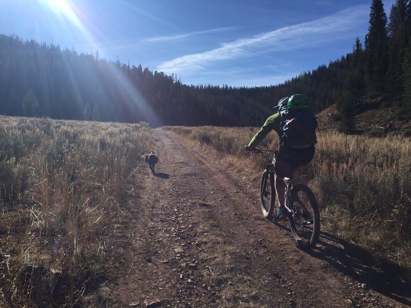
[[[353,115],[375,102],[393,106],[399,118],[411,118],[411,1],[391,6],[389,23],[381,0],[372,0],[364,45],[357,37],[347,55],[347,73],[337,101],[343,130],[354,127]]]

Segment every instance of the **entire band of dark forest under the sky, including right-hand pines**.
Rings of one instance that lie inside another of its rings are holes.
[[[0,35],[0,113],[53,119],[159,125],[259,126],[278,99],[305,93],[314,111],[338,104],[345,127],[371,99],[411,115],[411,2],[397,0],[390,21],[373,0],[364,47],[271,87],[184,85],[177,76]],[[354,42],[353,42],[354,43]],[[379,106],[378,106],[379,107]]]

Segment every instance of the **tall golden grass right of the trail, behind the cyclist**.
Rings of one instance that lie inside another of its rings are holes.
[[[170,127],[218,152],[221,163],[257,179],[267,156],[244,146],[257,128]],[[271,132],[259,145],[278,148]],[[322,211],[322,230],[390,260],[411,279],[411,139],[318,133],[315,157],[301,169]],[[255,185],[259,185],[256,180]]]

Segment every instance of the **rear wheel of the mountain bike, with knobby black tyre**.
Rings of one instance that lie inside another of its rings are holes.
[[[320,235],[320,210],[308,186],[296,184],[290,192],[289,222],[291,233],[299,246],[315,245]]]

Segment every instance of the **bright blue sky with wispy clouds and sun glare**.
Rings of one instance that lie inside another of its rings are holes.
[[[385,0],[389,16],[395,0]],[[270,86],[339,59],[371,0],[0,0],[0,33],[175,74],[188,85]]]

